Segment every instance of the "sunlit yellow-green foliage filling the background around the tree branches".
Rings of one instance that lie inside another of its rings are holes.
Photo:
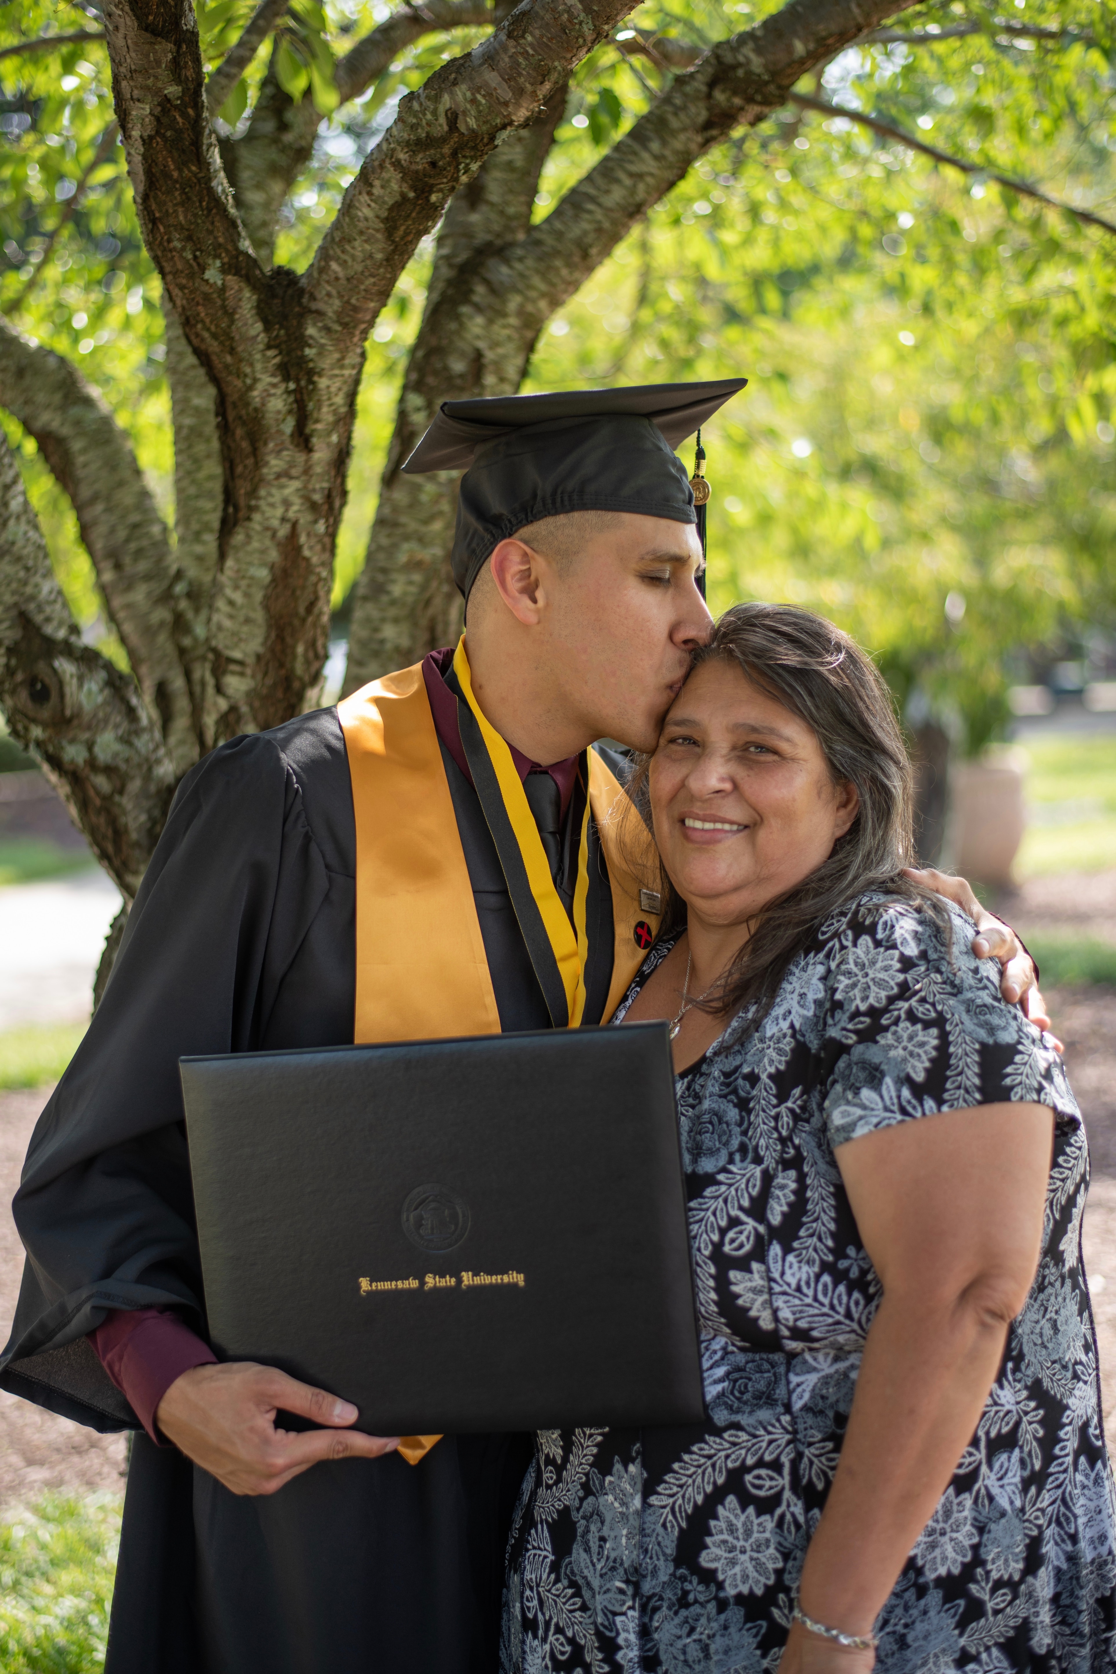
[[[666,85],[671,42],[708,45],[771,8],[641,7],[574,77],[539,218]],[[199,8],[207,64],[251,10]],[[331,62],[387,15],[360,0],[325,12],[299,0],[288,15],[279,74],[323,114],[281,214],[276,254],[294,268],[398,100],[482,37],[425,37],[335,109]],[[0,44],[82,18],[99,28],[92,7],[62,20],[10,0]],[[661,52],[651,42],[636,55],[656,30]],[[892,33],[919,39],[867,42],[801,90],[1116,218],[1109,5],[952,0],[904,13]],[[219,132],[244,131],[266,62],[261,50]],[[0,306],[99,385],[172,516],[157,276],[120,146],[90,171],[112,121],[104,44],[0,59]],[[529,387],[746,373],[750,390],[708,437],[713,601],[827,611],[880,656],[909,718],[932,710],[977,748],[1004,721],[1006,685],[1026,676],[1029,648],[1116,621],[1114,256],[1116,234],[984,172],[788,105],[711,152],[616,249],[544,328]],[[338,604],[363,559],[430,258],[427,239],[368,343]],[[28,470],[74,608],[94,623],[72,517],[30,457]]]

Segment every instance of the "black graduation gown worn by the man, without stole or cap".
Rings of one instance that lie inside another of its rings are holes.
[[[545,1028],[477,793],[442,755],[502,1028]],[[234,738],[182,782],[104,999],[32,1137],[3,1388],[136,1430],[85,1333],[107,1309],[171,1304],[204,1334],[177,1060],[353,1040],[355,855],[336,710]],[[612,929],[596,844],[594,865],[597,1019]],[[315,1465],[256,1498],[139,1430],[107,1674],[494,1674],[527,1455],[525,1438],[447,1436],[418,1466]]]

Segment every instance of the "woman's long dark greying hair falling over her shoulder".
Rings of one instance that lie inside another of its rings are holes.
[[[949,942],[944,902],[902,876],[915,865],[914,790],[907,747],[892,695],[875,663],[823,616],[790,604],[736,604],[713,638],[694,653],[703,663],[736,663],[741,673],[803,720],[817,737],[835,783],[857,787],[860,809],[822,865],[770,901],[703,1009],[728,1016],[751,1008],[758,1026],[775,1001],[791,961],[840,907],[865,891],[882,891],[930,914]],[[651,824],[651,757],[639,757],[629,795]],[[686,924],[686,902],[663,870],[661,932]]]

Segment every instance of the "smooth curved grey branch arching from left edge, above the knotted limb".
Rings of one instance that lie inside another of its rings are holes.
[[[186,772],[197,735],[174,638],[174,561],[131,442],[67,360],[8,325],[0,325],[0,388],[74,504],[147,708]]]

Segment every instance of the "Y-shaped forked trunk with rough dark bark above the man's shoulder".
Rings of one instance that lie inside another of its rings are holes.
[[[191,8],[107,0],[114,97],[144,241],[218,390],[224,517],[202,748],[313,698],[363,345],[418,239],[627,0],[525,0],[410,94],[310,271],[264,273],[206,114]]]

